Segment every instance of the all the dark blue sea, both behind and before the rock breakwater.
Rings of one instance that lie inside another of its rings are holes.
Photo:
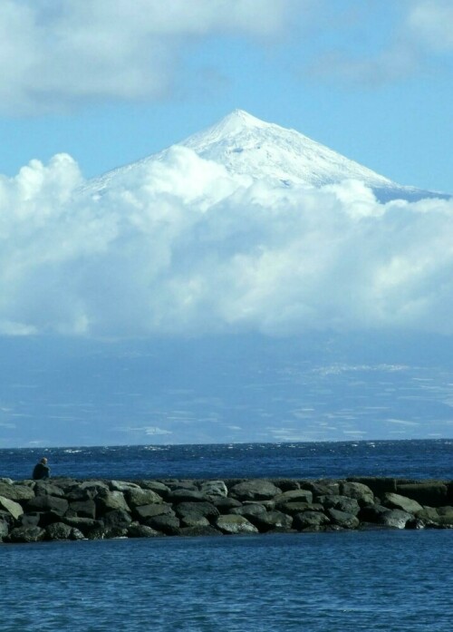
[[[0,451],[21,479],[348,475],[452,479],[452,440]],[[1,545],[2,632],[451,629],[452,530]]]

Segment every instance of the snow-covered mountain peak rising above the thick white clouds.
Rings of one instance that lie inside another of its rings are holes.
[[[235,110],[207,130],[199,131],[186,141],[125,167],[111,170],[90,180],[87,189],[101,194],[116,179],[133,175],[152,163],[165,162],[175,147],[195,151],[199,157],[222,165],[232,176],[252,180],[272,180],[290,187],[322,187],[342,180],[361,180],[381,201],[389,199],[448,198],[433,191],[405,187],[345,158],[304,134]]]

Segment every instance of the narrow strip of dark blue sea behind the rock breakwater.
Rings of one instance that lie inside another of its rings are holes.
[[[53,476],[76,478],[453,479],[453,440],[231,443],[0,450],[0,477],[30,478],[45,455]]]

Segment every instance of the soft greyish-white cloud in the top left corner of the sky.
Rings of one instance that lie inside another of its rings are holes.
[[[294,0],[2,0],[0,109],[34,115],[85,102],[161,98],[184,44],[279,34]],[[185,48],[187,54],[187,46]]]

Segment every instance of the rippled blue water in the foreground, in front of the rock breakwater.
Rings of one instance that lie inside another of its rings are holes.
[[[453,532],[2,547],[1,629],[451,629]]]

